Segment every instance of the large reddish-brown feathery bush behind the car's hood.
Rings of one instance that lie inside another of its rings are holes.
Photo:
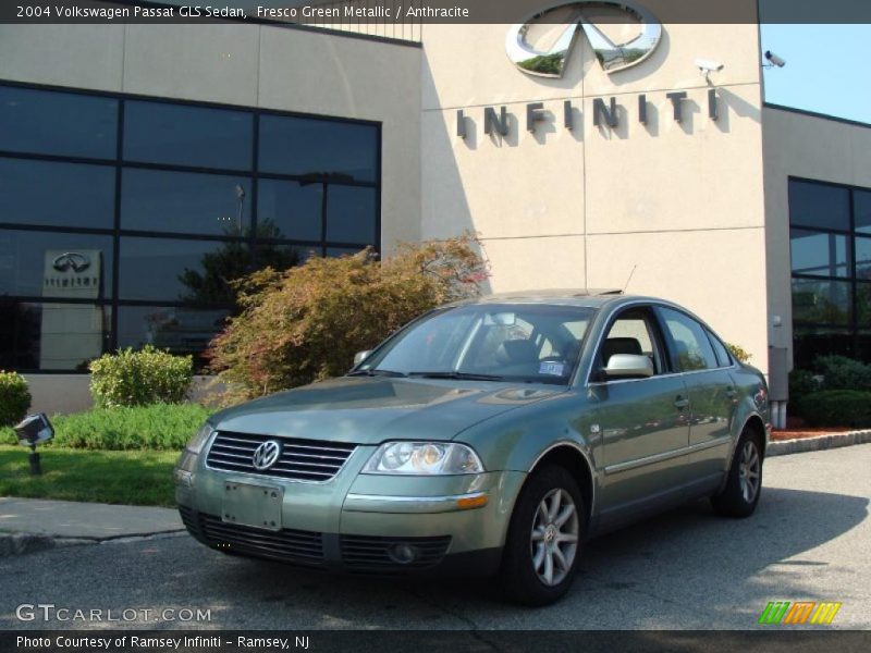
[[[401,245],[383,262],[370,250],[312,257],[242,280],[242,313],[209,350],[211,369],[231,389],[225,403],[344,374],[356,352],[440,304],[477,294],[487,269],[476,246],[466,235]]]

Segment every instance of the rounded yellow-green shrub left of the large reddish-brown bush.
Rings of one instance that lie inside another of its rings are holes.
[[[89,366],[90,394],[100,407],[177,404],[194,375],[191,356],[173,356],[146,345],[105,354]]]

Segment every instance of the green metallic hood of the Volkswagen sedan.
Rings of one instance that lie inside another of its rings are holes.
[[[507,410],[565,392],[563,386],[344,377],[228,408],[219,431],[377,444],[450,440]]]

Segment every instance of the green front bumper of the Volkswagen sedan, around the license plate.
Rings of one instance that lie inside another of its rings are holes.
[[[525,473],[359,475],[372,451],[358,447],[345,468],[322,483],[218,471],[188,460],[186,469],[176,469],[179,510],[192,535],[229,554],[377,575],[498,569]],[[224,488],[233,482],[280,488],[281,528],[222,520]]]

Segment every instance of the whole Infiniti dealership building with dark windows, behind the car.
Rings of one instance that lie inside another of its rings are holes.
[[[199,356],[248,270],[467,231],[488,291],[871,362],[871,125],[765,103],[757,24],[639,15],[0,25],[0,369],[79,408],[103,352]]]

